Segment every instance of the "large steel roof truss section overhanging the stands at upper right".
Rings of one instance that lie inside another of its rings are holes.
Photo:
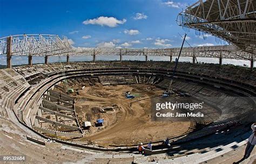
[[[255,56],[255,9],[254,0],[199,0],[179,13],[177,23],[210,33]]]

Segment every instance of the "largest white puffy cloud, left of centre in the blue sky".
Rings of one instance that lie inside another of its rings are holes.
[[[117,18],[114,18],[114,17],[98,17],[94,19],[87,19],[83,22],[83,24],[116,27],[118,24],[124,24],[125,22],[126,22],[126,19],[118,20]]]

